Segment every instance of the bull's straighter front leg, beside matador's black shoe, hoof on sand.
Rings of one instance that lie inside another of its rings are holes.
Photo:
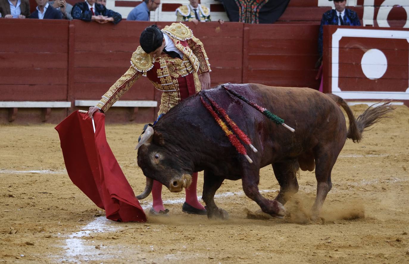
[[[208,170],[205,170],[204,172],[202,199],[206,204],[208,218],[229,218],[229,214],[225,210],[218,208],[214,202],[214,195],[224,180],[224,178],[218,177]]]

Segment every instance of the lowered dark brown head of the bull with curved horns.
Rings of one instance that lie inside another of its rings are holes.
[[[153,180],[165,185],[171,192],[180,192],[188,188],[192,182],[192,170],[181,161],[174,145],[165,144],[163,135],[148,126],[136,148],[138,150],[138,166],[146,176],[144,192],[137,196],[139,200],[146,198],[152,191]]]

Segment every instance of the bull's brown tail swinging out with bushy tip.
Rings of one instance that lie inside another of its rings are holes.
[[[339,106],[345,110],[346,115],[348,115],[349,128],[346,137],[352,139],[353,142],[360,142],[362,139],[362,133],[369,130],[366,129],[367,127],[378,123],[384,118],[391,118],[392,116],[389,114],[395,109],[395,107],[391,105],[391,101],[387,101],[376,107],[373,107],[373,105],[369,106],[364,113],[355,119],[351,108],[349,108],[344,99],[334,94],[327,95],[334,100],[334,102],[339,104]]]

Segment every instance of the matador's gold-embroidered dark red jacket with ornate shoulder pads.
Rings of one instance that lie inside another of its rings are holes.
[[[132,54],[128,71],[102,96],[96,107],[104,112],[108,111],[141,76],[146,76],[156,89],[164,92],[158,115],[166,113],[180,102],[178,78],[192,73],[196,92],[201,90],[198,71],[211,71],[202,42],[182,23],[172,23],[162,29],[162,32],[169,35],[175,47],[182,51],[182,60],[171,58],[165,53],[153,59],[139,46]]]

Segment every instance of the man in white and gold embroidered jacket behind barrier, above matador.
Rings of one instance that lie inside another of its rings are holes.
[[[192,21],[195,24],[211,21],[210,10],[207,7],[200,5],[198,0],[189,0],[189,2],[190,4],[176,9],[176,21]]]

